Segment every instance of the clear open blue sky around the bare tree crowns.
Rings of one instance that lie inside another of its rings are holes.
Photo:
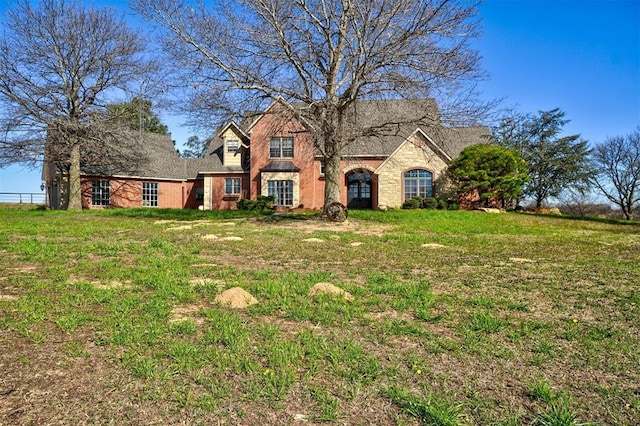
[[[125,7],[126,2],[94,1]],[[6,2],[0,0],[0,9]],[[521,113],[560,108],[592,143],[640,126],[640,0],[486,0],[480,90]],[[181,144],[191,134],[162,116]],[[40,170],[0,169],[0,192],[40,192]]]

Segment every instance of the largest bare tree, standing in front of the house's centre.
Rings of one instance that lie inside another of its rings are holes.
[[[483,73],[470,41],[475,2],[463,0],[135,0],[164,29],[172,63],[187,71],[192,111],[264,110],[283,99],[325,159],[325,206],[340,199],[343,149],[402,123],[360,125],[356,101],[437,99],[477,112]],[[403,121],[427,117],[416,104]],[[457,116],[460,117],[459,115]],[[393,125],[393,126],[392,126]]]

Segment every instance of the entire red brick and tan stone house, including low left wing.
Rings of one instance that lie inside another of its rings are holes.
[[[274,195],[280,208],[321,209],[320,147],[283,102],[227,123],[202,159],[181,158],[168,137],[147,134],[140,145],[146,158],[135,170],[104,173],[86,164],[83,206],[218,210],[236,208],[241,198]],[[450,161],[489,133],[444,126],[433,100],[360,101],[349,119],[358,132],[343,147],[340,165],[341,201],[348,208],[400,207],[417,195],[437,195]],[[45,180],[55,194],[55,177]]]

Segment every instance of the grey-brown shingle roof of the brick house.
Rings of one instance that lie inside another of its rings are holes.
[[[253,116],[252,116],[253,117]],[[435,101],[385,100],[360,101],[347,115],[359,133],[343,147],[346,157],[388,157],[409,136],[421,130],[451,158],[468,145],[483,142],[489,134],[486,127],[444,127]],[[248,120],[250,122],[250,120]],[[83,156],[84,175],[127,176],[155,179],[194,179],[200,173],[242,173],[249,165],[225,166],[223,140],[214,137],[205,158],[182,158],[170,136],[129,132],[118,140],[102,140],[99,154]],[[98,142],[96,142],[98,143]],[[109,149],[104,149],[108,146]],[[90,151],[90,146],[87,151]],[[285,162],[269,164],[263,171],[292,171]]]

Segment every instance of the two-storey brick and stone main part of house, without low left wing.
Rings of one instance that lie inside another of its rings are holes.
[[[435,196],[436,183],[451,160],[489,134],[486,127],[443,126],[432,100],[420,103],[423,119],[411,123],[407,109],[415,105],[358,103],[358,127],[377,131],[357,136],[343,148],[341,202],[348,208],[400,207],[416,195]],[[201,171],[204,209],[233,208],[229,201],[258,195],[275,195],[280,207],[323,207],[322,157],[313,136],[286,111],[276,102],[266,112],[218,132],[209,155],[216,160],[215,168]],[[378,128],[380,123],[386,128]]]

